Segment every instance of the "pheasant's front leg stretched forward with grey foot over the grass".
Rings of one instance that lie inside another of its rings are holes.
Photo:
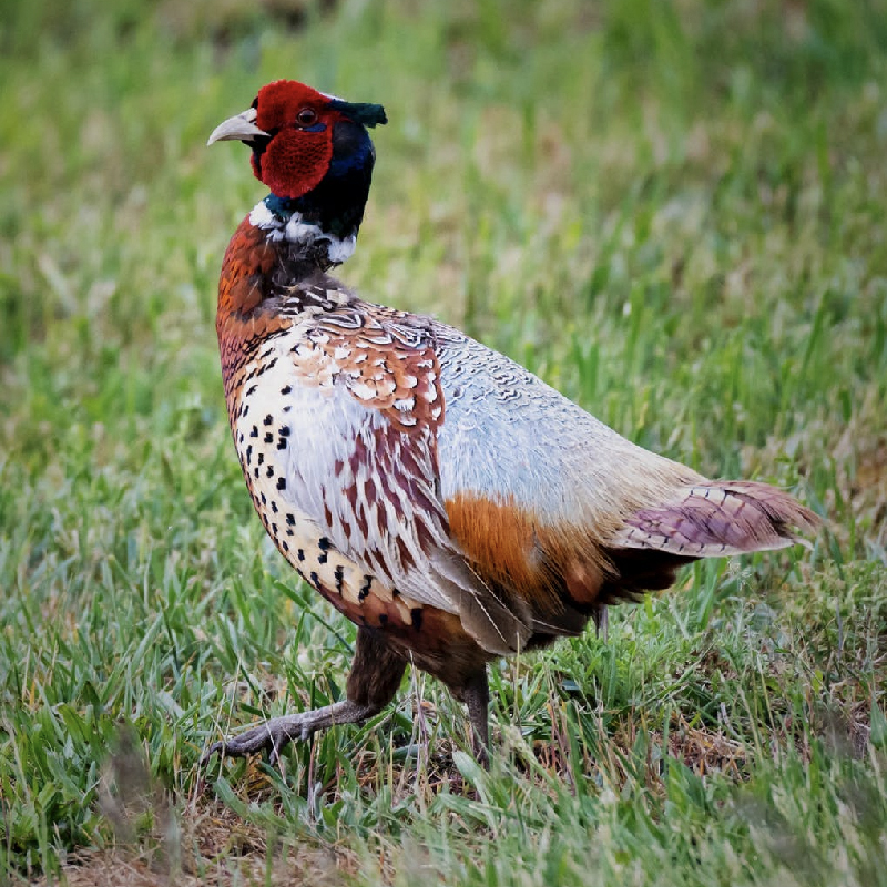
[[[392,650],[380,634],[370,629],[358,629],[345,700],[310,712],[273,717],[238,736],[216,742],[201,758],[201,765],[216,753],[246,757],[263,748],[268,750],[269,762],[276,764],[281,752],[293,740],[307,740],[315,730],[325,730],[334,724],[359,724],[378,714],[394,699],[406,665],[404,656]]]

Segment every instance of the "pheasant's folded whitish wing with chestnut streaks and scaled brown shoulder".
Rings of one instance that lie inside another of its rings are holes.
[[[466,562],[440,496],[440,368],[427,322],[354,300],[275,340],[294,384],[286,498],[366,573],[457,613],[495,653],[530,629]],[[281,389],[284,390],[283,388]]]

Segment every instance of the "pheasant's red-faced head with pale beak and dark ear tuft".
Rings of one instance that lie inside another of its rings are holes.
[[[207,144],[238,140],[253,150],[256,177],[274,195],[298,200],[322,182],[373,170],[367,126],[387,123],[379,104],[345,102],[295,80],[277,80],[258,91],[252,106],[213,131]],[[366,194],[364,194],[366,200]]]

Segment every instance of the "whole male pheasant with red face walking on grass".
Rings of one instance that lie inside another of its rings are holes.
[[[354,251],[377,104],[295,81],[259,90],[239,140],[271,194],[232,237],[216,329],[231,429],[258,516],[358,625],[347,697],[207,752],[276,758],[356,723],[407,663],[468,705],[487,759],[487,663],[601,623],[696,558],[778,549],[816,519],[764,483],[713,481],[620,437],[446,324],[327,275]]]

